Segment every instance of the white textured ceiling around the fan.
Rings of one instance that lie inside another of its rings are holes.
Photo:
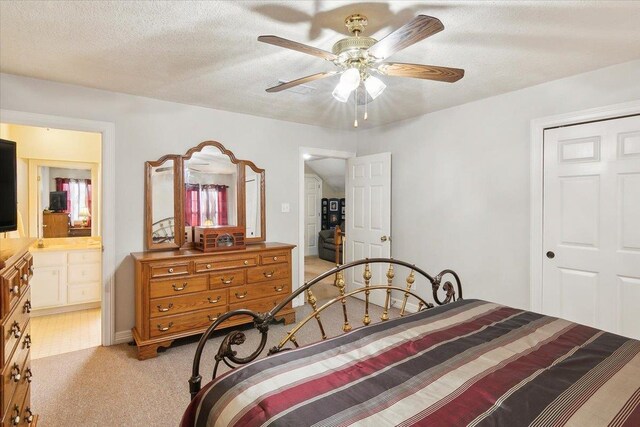
[[[396,62],[466,70],[454,84],[398,77],[361,128],[640,58],[639,2],[0,2],[0,70],[319,126],[349,128],[353,103],[331,97],[337,77],[308,94],[268,94],[333,64],[259,43],[275,34],[330,50],[344,18],[369,18],[382,38],[417,14],[445,30]]]

